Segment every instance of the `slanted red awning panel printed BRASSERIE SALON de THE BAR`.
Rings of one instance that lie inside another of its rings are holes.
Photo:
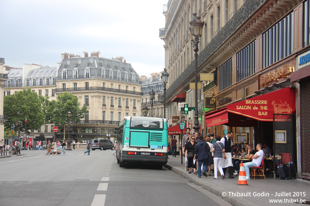
[[[273,121],[273,114],[294,114],[295,89],[284,88],[227,105],[227,111],[260,121]]]

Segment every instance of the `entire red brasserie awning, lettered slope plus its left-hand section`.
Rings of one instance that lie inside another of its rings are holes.
[[[287,87],[205,114],[206,127],[251,127],[256,120],[273,121],[273,114],[294,114],[295,108],[295,89]]]

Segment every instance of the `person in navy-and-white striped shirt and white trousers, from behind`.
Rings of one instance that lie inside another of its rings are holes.
[[[215,136],[216,142],[213,144],[212,151],[214,152],[214,178],[217,179],[217,169],[219,168],[222,179],[225,178],[222,169],[223,155],[225,154],[224,144],[220,142],[221,137],[219,135]]]

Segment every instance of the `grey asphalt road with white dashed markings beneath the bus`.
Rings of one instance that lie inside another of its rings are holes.
[[[84,151],[0,158],[0,206],[231,205],[165,168],[120,168],[112,150]]]

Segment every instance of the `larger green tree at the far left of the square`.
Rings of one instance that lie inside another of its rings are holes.
[[[27,131],[37,130],[44,124],[44,113],[42,112],[42,102],[36,92],[31,88],[24,88],[15,94],[3,98],[3,114],[8,115],[8,121],[4,123],[5,130],[11,128],[18,120],[23,122],[20,128],[25,131],[25,117],[27,117]],[[17,127],[15,127],[17,131]]]

